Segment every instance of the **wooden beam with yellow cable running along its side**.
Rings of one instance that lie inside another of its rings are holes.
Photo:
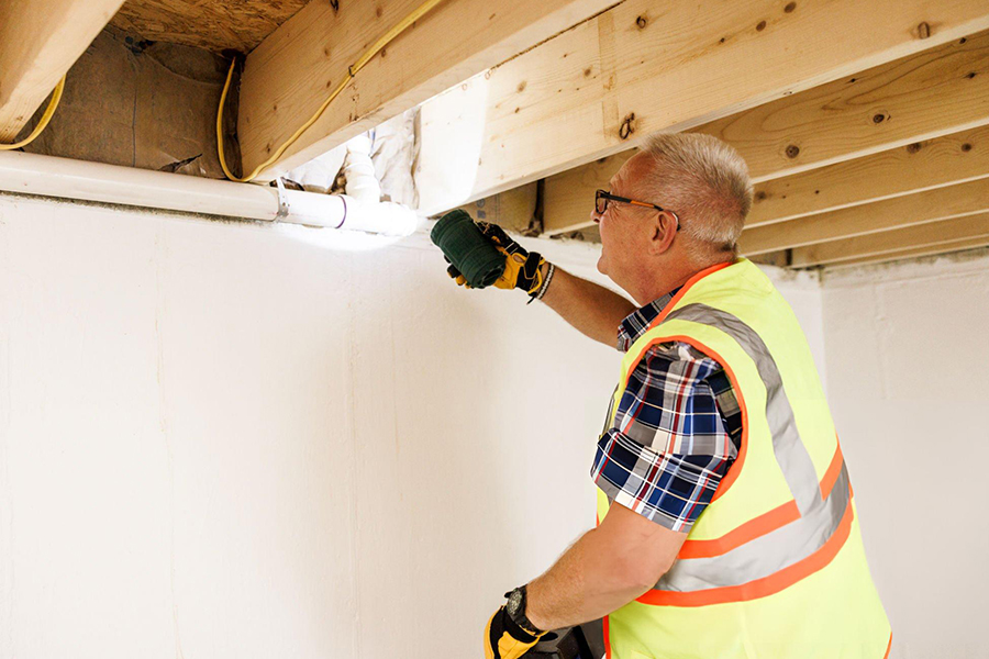
[[[274,178],[470,76],[566,30],[613,0],[492,5],[447,0],[365,66],[322,118],[260,178]],[[245,171],[309,120],[368,47],[422,0],[313,0],[251,53],[241,81]]]

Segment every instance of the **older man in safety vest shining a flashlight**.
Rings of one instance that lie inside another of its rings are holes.
[[[604,616],[618,659],[881,659],[889,623],[810,349],[737,258],[744,160],[707,135],[655,135],[610,188],[598,269],[637,309],[481,225],[505,254],[496,286],[625,354],[591,469],[599,525],[510,593],[486,656]]]

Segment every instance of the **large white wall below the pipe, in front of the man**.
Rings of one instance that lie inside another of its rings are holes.
[[[619,358],[423,236],[0,198],[0,657],[479,656],[592,523]]]

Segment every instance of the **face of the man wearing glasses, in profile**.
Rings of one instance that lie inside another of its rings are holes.
[[[648,156],[635,154],[611,177],[611,193],[629,199],[648,201],[642,198],[640,181],[648,175]],[[601,231],[601,257],[598,271],[607,275],[625,290],[634,278],[634,270],[641,267],[646,254],[655,211],[627,203],[611,201],[604,213],[592,217]]]

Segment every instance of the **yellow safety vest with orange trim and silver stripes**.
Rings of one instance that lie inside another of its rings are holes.
[[[790,306],[748,260],[699,272],[626,353],[609,425],[635,365],[667,342],[724,367],[742,409],[742,444],[673,568],[604,618],[608,657],[881,659],[889,621]],[[599,490],[599,521],[609,505]]]

